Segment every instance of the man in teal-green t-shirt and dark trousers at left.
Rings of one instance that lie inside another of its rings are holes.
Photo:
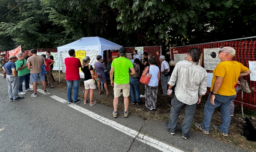
[[[19,76],[19,88],[18,93],[19,94],[26,94],[26,92],[22,89],[22,83],[25,80],[25,91],[31,91],[32,88],[29,88],[29,80],[30,80],[30,70],[27,68],[28,63],[26,58],[26,54],[23,52],[20,52],[18,54],[18,60],[15,62],[16,69],[18,70],[18,76]]]

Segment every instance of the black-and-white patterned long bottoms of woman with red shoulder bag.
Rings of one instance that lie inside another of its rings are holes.
[[[145,105],[148,109],[156,108],[158,86],[145,85]]]

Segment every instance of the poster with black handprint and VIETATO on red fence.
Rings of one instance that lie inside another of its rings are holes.
[[[205,70],[214,70],[219,64],[220,58],[218,58],[217,48],[204,48],[204,69]]]

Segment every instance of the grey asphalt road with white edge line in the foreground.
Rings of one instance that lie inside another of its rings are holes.
[[[183,140],[178,128],[172,136],[165,122],[124,118],[121,111],[114,119],[113,109],[101,104],[67,104],[66,92],[47,88],[42,94],[40,84],[37,97],[30,91],[10,102],[6,79],[0,78],[1,152],[246,152],[202,132]]]

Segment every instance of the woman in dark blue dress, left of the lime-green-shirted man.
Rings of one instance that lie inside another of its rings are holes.
[[[104,73],[104,70],[107,70],[107,69],[101,63],[101,60],[102,60],[102,56],[101,55],[97,55],[96,59],[97,59],[97,62],[94,63],[94,66],[96,68],[96,72],[97,72],[98,76],[100,77],[100,82],[104,83],[104,88],[106,90],[106,94],[107,94],[107,96],[109,96],[111,94],[111,92],[108,92],[107,80],[106,80],[106,76],[105,76],[105,73]],[[99,89],[99,94],[103,94],[104,93],[100,89],[100,83],[98,84],[98,89]]]

